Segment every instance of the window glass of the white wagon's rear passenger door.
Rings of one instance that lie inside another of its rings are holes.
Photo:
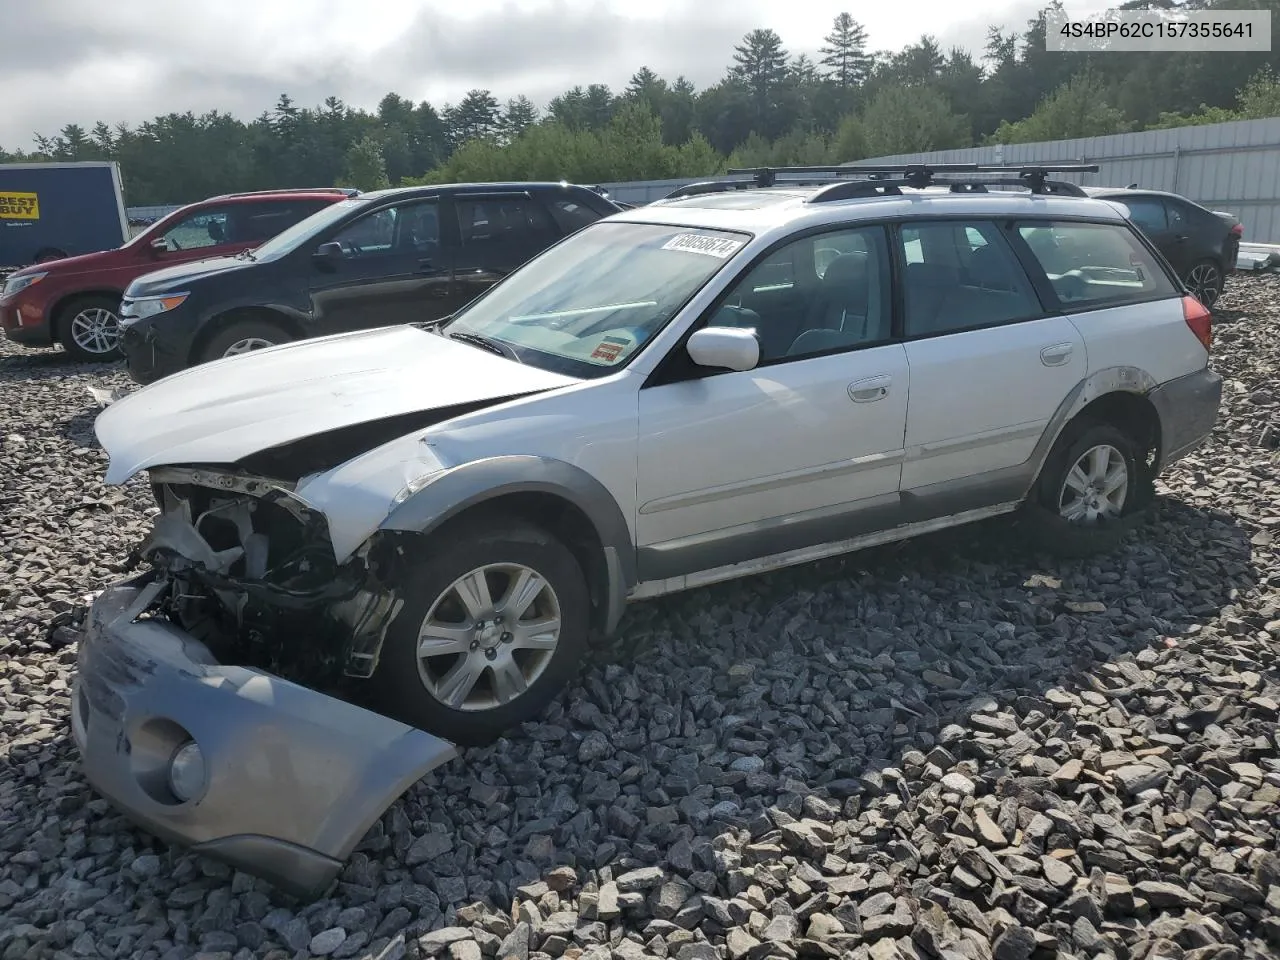
[[[932,337],[1039,316],[1039,301],[993,223],[913,223],[900,233],[904,332]]]

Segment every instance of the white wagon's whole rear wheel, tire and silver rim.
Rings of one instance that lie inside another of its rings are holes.
[[[1151,471],[1138,447],[1111,424],[1069,426],[1044,461],[1023,509],[1036,547],[1060,557],[1088,557],[1119,547],[1146,518],[1153,494]],[[1089,462],[1082,477],[1075,467],[1085,458]],[[1123,486],[1110,493],[1080,497],[1074,489],[1082,479],[1096,481],[1117,472]]]

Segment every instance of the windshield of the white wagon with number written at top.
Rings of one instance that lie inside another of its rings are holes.
[[[498,340],[534,366],[602,376],[635,356],[749,239],[596,223],[490,288],[443,332]]]

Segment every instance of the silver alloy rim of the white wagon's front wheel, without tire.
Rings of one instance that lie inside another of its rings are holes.
[[[536,571],[490,563],[454,580],[417,635],[426,691],[454,710],[490,710],[522,695],[559,645],[559,598]]]

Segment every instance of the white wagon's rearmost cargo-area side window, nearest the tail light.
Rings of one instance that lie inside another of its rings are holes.
[[[1178,296],[1128,224],[1021,223],[1018,232],[1064,306]]]

